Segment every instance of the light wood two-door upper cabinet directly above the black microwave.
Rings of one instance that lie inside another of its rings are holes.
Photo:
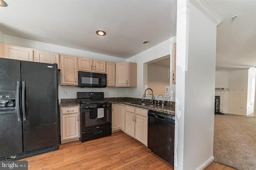
[[[78,57],[78,70],[106,73],[106,62]]]

